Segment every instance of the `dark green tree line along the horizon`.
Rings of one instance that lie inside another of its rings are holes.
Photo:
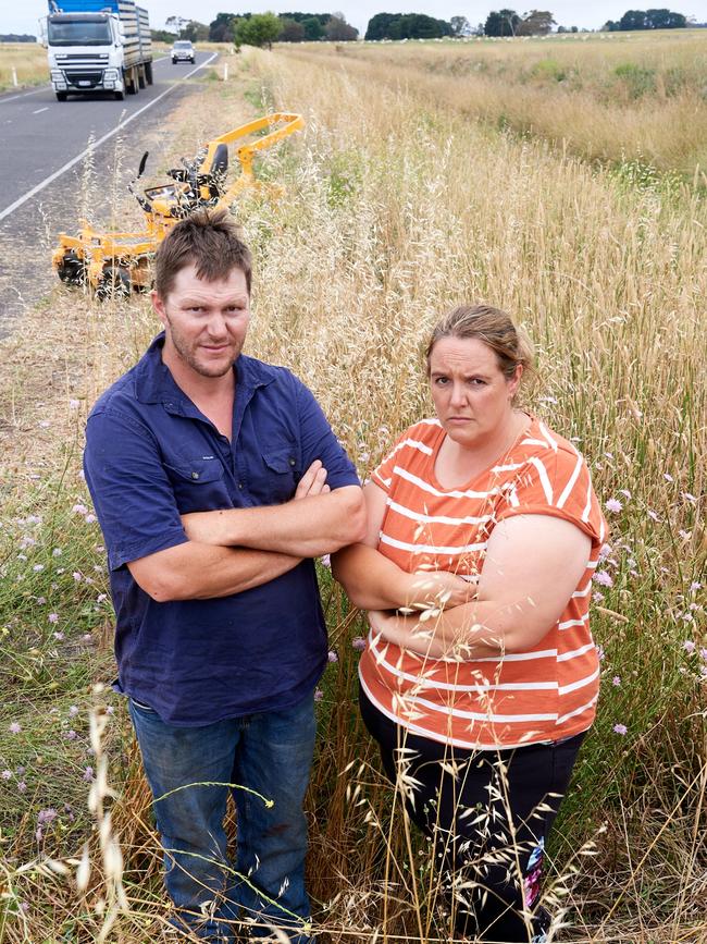
[[[629,10],[620,20],[609,20],[604,30],[675,29],[690,25],[682,13],[667,9]],[[492,10],[484,23],[472,27],[466,16],[438,20],[425,13],[376,13],[371,17],[364,39],[442,39],[466,36],[546,36],[557,26],[549,10]],[[193,42],[235,42],[270,46],[273,42],[348,42],[358,39],[358,29],[343,13],[219,13],[210,24],[170,16],[166,30],[154,30],[156,39],[171,41],[175,34]],[[578,33],[576,26],[558,26],[558,33]]]

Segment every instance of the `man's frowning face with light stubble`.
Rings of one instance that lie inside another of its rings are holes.
[[[164,358],[177,358],[201,377],[223,377],[243,350],[250,321],[246,277],[233,269],[227,279],[204,282],[194,265],[179,269],[171,292],[152,292],[152,306],[164,324]]]

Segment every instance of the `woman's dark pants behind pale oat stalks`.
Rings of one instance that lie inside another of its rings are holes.
[[[584,734],[512,750],[464,750],[410,734],[360,694],[385,773],[434,844],[455,933],[482,941],[545,940],[538,907],[544,849]],[[402,748],[402,750],[401,750]]]

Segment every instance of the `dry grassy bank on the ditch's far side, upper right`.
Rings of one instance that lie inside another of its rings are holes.
[[[672,30],[673,34],[679,30]],[[704,30],[703,30],[704,32]],[[285,49],[283,48],[283,52]],[[404,86],[464,118],[599,161],[640,160],[693,180],[707,170],[707,36],[289,47],[312,64]]]

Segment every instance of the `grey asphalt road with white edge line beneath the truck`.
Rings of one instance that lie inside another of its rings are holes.
[[[107,94],[60,102],[49,85],[0,96],[0,336],[54,284],[57,234],[76,230],[87,212],[100,219],[113,192],[124,193],[144,140],[198,90],[195,77],[214,59],[158,59],[154,84],[123,101]]]

